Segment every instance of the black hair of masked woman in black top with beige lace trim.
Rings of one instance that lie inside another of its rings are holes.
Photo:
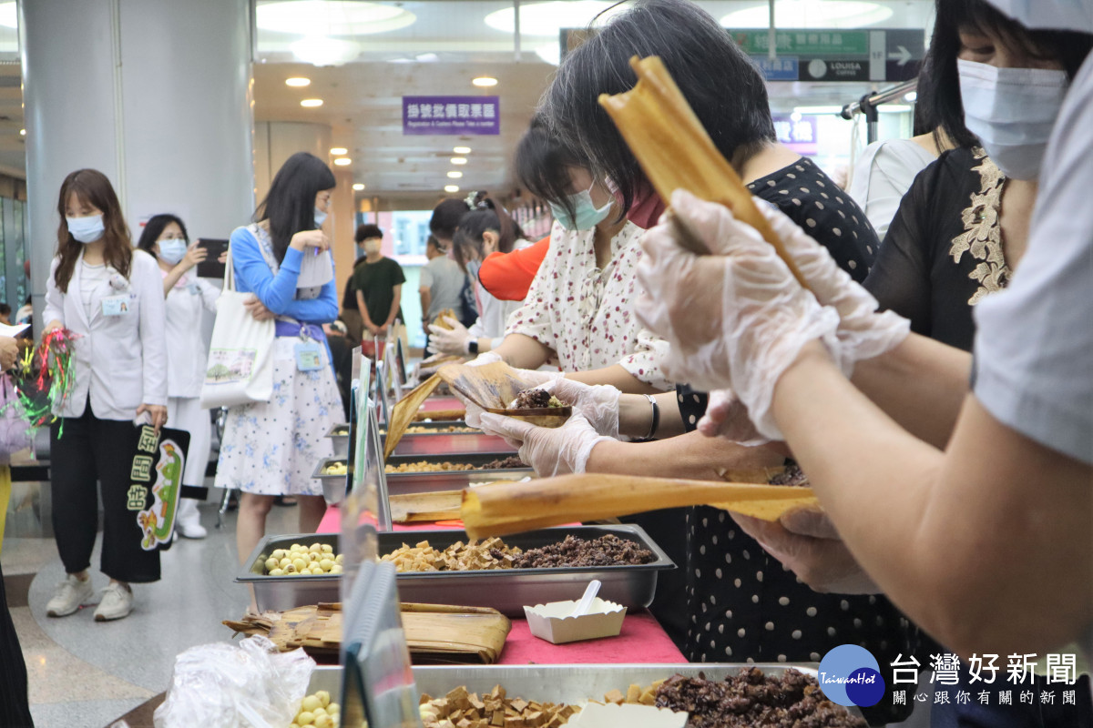
[[[1021,48],[1039,59],[1058,60],[1070,81],[1093,47],[1093,35],[1076,31],[1031,31],[995,10],[985,0],[937,0],[937,20],[926,65],[931,69],[927,104],[939,131],[957,146],[977,146],[979,140],[964,126],[964,104],[960,93],[956,58],[961,52],[960,32],[983,33]],[[918,94],[919,102],[922,93]]]

